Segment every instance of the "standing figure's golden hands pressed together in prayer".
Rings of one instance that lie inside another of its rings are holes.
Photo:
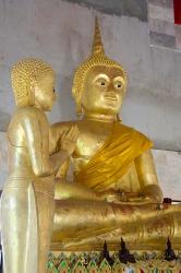
[[[58,150],[65,151],[69,155],[71,155],[75,150],[79,136],[80,130],[77,126],[72,126],[70,129],[65,129],[59,140]]]

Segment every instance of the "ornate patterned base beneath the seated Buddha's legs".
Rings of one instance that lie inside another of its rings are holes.
[[[104,259],[100,252],[51,252],[49,254],[48,272],[50,273],[121,273],[121,272],[180,272],[181,252],[176,251],[177,260],[166,261],[164,251],[136,251],[132,252],[135,263],[122,263],[118,252],[110,252],[112,264]]]

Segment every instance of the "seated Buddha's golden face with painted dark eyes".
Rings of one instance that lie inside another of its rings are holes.
[[[95,67],[86,75],[82,107],[84,112],[117,115],[120,110],[125,82],[117,68]]]

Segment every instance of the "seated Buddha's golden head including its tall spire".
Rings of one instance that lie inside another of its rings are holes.
[[[72,93],[77,114],[118,115],[125,91],[126,73],[105,55],[96,19],[93,52],[74,75]]]

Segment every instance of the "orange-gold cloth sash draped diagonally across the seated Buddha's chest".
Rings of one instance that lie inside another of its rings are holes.
[[[126,174],[131,163],[153,146],[143,133],[116,122],[111,135],[75,174],[75,181],[101,192]]]

